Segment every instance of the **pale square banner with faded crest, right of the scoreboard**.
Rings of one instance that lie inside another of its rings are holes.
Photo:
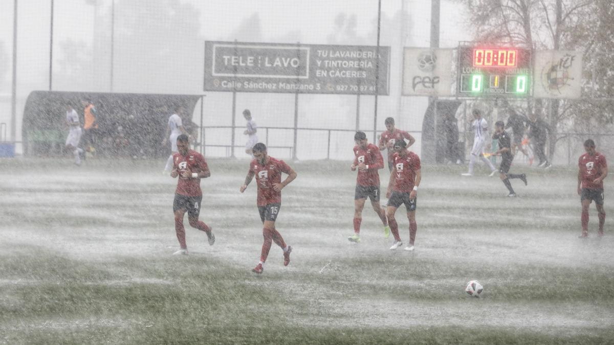
[[[581,96],[582,54],[573,50],[535,52],[535,98],[577,99]]]

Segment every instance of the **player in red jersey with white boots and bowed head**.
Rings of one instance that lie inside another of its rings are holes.
[[[420,158],[416,153],[406,149],[404,140],[397,140],[394,143],[394,169],[390,175],[388,190],[386,197],[388,198],[388,207],[386,215],[388,217],[388,225],[394,236],[394,243],[390,249],[397,249],[403,245],[401,237],[398,236],[397,220],[394,219],[394,214],[401,204],[405,204],[407,209],[407,218],[410,220],[410,244],[405,247],[405,250],[414,250],[414,241],[416,240],[416,195],[418,194],[418,186],[422,179],[420,173]]]

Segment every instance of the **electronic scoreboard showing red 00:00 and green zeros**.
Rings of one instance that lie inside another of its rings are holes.
[[[458,96],[530,95],[530,49],[459,47],[458,61]]]

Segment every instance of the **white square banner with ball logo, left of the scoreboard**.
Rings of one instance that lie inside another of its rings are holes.
[[[452,96],[452,82],[452,49],[403,49],[403,96]]]

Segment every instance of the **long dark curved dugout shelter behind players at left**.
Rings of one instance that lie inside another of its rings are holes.
[[[32,91],[23,110],[24,155],[53,156],[64,150],[68,134],[66,110],[69,105],[84,123],[82,101],[96,107],[99,126],[95,147],[105,157],[166,157],[163,147],[168,117],[177,106],[184,109],[185,129],[198,138],[200,126],[192,122],[201,95],[162,95],[146,93],[93,93],[70,91]]]

